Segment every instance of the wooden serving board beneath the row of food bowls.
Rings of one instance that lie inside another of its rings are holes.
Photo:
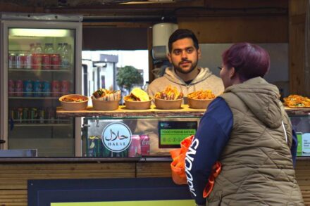
[[[63,110],[63,108],[58,107],[57,117],[168,117],[168,116],[192,116],[192,117],[202,117],[206,110],[197,110],[189,108],[188,105],[182,105],[178,110],[161,110],[151,105],[148,110],[128,110],[124,105],[120,105],[118,110],[112,111],[101,111],[94,110],[92,107],[88,107],[86,110],[69,111]],[[310,108],[287,108],[285,111],[288,115],[310,115]]]

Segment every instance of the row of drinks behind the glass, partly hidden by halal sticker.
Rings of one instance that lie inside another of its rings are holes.
[[[105,148],[101,136],[89,136],[87,142],[88,157],[140,157],[149,155],[149,150],[149,136],[144,134],[132,135],[129,148],[120,153]]]

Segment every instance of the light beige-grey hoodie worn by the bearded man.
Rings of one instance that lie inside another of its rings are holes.
[[[163,91],[166,86],[176,86],[179,91],[182,91],[184,96],[199,89],[211,89],[216,96],[224,91],[222,79],[212,75],[208,68],[199,67],[199,74],[195,77],[190,84],[186,84],[176,73],[173,67],[167,67],[163,77],[155,79],[149,85],[149,96],[154,97],[156,92]]]

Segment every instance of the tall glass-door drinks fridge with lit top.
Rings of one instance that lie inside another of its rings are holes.
[[[82,16],[1,13],[1,145],[38,157],[80,156],[80,118],[57,118],[81,92]]]

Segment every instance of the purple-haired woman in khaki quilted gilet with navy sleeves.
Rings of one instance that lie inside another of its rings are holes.
[[[297,139],[260,46],[233,44],[222,54],[225,91],[208,107],[185,160],[197,205],[304,205],[295,179]],[[194,152],[193,152],[194,151]],[[203,197],[212,165],[221,162],[213,190]]]

